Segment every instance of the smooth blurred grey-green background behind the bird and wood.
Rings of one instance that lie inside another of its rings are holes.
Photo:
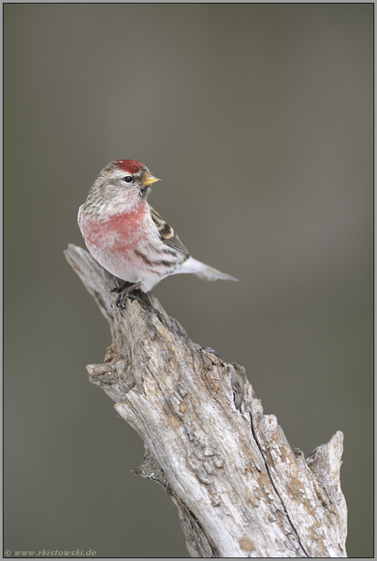
[[[154,290],[246,368],[305,455],[344,432],[349,557],[373,557],[372,3],[6,3],[5,533],[11,551],[188,558],[143,443],[89,384],[109,328],[64,259],[136,159],[193,256]]]

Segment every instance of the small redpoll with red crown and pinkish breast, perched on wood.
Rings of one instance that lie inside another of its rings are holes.
[[[193,273],[206,281],[238,281],[191,257],[173,228],[147,202],[155,181],[159,179],[139,161],[112,161],[78,211],[78,225],[91,255],[107,271],[132,283],[116,299],[121,312],[132,290],[150,292],[169,275]]]

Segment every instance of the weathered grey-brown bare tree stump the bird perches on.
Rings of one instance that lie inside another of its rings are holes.
[[[89,379],[143,438],[133,471],[173,499],[191,557],[347,557],[342,432],[305,460],[263,415],[242,366],[193,343],[152,294],[128,301],[122,318],[119,280],[80,247],[65,255],[112,331]]]

